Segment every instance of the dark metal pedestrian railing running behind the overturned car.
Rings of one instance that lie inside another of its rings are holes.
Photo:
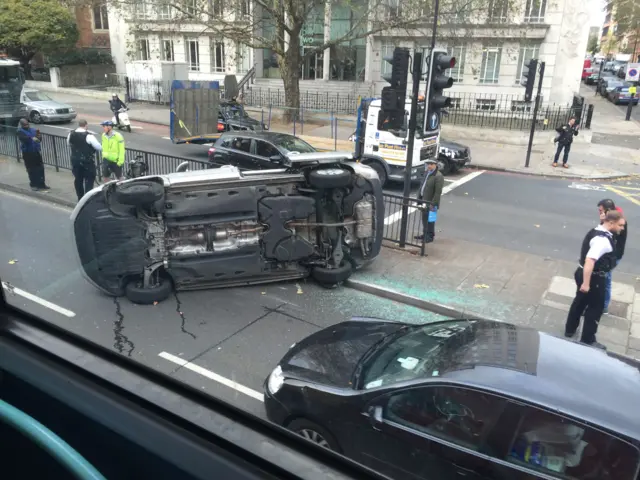
[[[41,155],[44,164],[54,167],[57,172],[59,172],[60,169],[71,170],[71,147],[67,144],[66,136],[42,133],[41,138]],[[18,162],[21,161],[20,144],[15,128],[6,128],[3,132],[0,132],[0,155],[15,158]],[[144,150],[126,150],[125,162],[138,159],[146,162],[149,175],[163,175],[175,172],[178,165],[184,162],[189,162],[189,168],[191,170],[213,167],[208,161],[204,160],[174,157],[172,155],[147,152]],[[96,155],[98,172],[96,182],[101,181],[99,173],[100,163],[100,155]],[[69,188],[73,188],[71,184],[69,184]],[[420,254],[425,255],[425,239],[424,237],[418,237],[424,234],[423,218],[428,209],[428,205],[416,198],[404,198],[401,195],[391,193],[384,193],[383,198],[385,203],[383,239],[392,243],[400,243],[402,206],[406,204],[409,213],[407,217],[406,245],[419,248]]]

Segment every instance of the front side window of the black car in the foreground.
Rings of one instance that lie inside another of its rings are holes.
[[[392,422],[478,450],[507,401],[477,390],[420,387],[392,395],[384,416]]]

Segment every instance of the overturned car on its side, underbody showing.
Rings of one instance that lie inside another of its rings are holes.
[[[87,193],[71,216],[84,276],[139,304],[189,290],[311,276],[345,281],[382,244],[373,169],[349,153],[291,154],[282,168],[144,176]]]

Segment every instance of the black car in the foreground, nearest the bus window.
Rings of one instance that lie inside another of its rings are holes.
[[[396,479],[638,479],[638,365],[525,327],[356,318],[264,391],[270,420]]]

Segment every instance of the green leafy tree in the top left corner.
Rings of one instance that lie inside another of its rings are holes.
[[[78,27],[72,10],[56,0],[1,0],[0,50],[23,64],[33,56],[73,48]]]

